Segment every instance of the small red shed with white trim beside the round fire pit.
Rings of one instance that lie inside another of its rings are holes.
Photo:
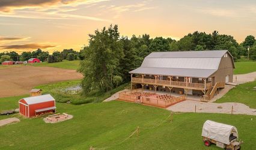
[[[27,97],[19,100],[20,115],[32,117],[40,113],[55,112],[55,99],[50,94]]]

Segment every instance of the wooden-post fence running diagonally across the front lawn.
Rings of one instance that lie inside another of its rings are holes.
[[[126,140],[128,140],[128,139],[130,139],[130,137],[132,137],[135,133],[137,133],[137,136],[139,136],[139,130],[148,130],[148,129],[153,129],[153,128],[157,128],[157,127],[159,127],[160,125],[162,125],[164,122],[166,122],[166,121],[168,121],[168,119],[169,119],[169,121],[170,122],[172,122],[172,112],[171,112],[171,114],[166,118],[166,119],[164,119],[162,122],[160,122],[159,124],[154,124],[152,127],[149,127],[149,128],[140,128],[139,126],[136,128],[136,130],[135,131],[133,131],[133,133],[132,134],[130,134],[128,137],[126,137],[126,139],[124,139],[124,140],[122,140],[121,142],[119,142],[119,143],[116,143],[116,144],[114,144],[114,145],[111,145],[111,146],[106,146],[106,147],[103,147],[103,148],[94,148],[93,146],[91,146],[90,147],[90,150],[103,150],[103,149],[109,149],[109,148],[112,148],[112,147],[114,147],[114,146],[117,146],[117,145],[121,145],[122,143],[124,143]]]

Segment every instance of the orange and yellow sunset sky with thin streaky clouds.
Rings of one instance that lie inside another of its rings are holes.
[[[1,0],[0,52],[80,50],[88,34],[118,25],[121,35],[175,40],[194,31],[219,31],[241,43],[256,37],[250,0]]]

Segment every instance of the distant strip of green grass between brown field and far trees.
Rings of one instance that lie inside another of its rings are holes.
[[[35,66],[35,67],[56,67],[56,68],[77,70],[78,67],[79,67],[80,62],[81,61],[63,60],[61,62],[53,62],[53,63],[41,62],[41,63],[28,64],[28,65],[32,65],[32,66]]]

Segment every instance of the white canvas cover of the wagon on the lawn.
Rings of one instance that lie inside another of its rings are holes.
[[[236,127],[232,125],[221,124],[215,121],[207,120],[204,122],[202,136],[230,145],[229,137],[232,130],[235,130],[236,133],[238,133]]]

